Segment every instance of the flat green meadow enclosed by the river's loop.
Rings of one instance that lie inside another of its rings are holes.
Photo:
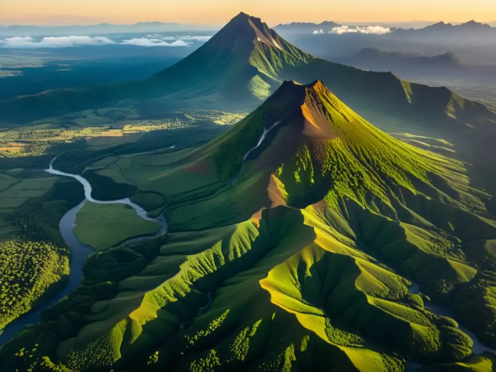
[[[81,243],[100,251],[131,238],[154,234],[160,226],[160,222],[142,219],[126,204],[86,201],[77,212],[73,232]]]

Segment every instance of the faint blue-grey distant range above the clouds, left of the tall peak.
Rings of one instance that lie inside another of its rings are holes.
[[[95,35],[112,33],[140,33],[140,32],[172,32],[172,31],[194,31],[213,30],[214,26],[189,25],[174,22],[138,22],[135,24],[110,24],[100,23],[96,25],[73,25],[73,26],[36,26],[36,25],[12,25],[1,26],[1,36],[68,36],[68,35]]]

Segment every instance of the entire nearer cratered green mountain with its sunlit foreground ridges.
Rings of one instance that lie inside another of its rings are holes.
[[[471,355],[426,304],[495,348],[486,195],[462,164],[381,132],[322,83],[284,83],[203,147],[103,165],[163,196],[167,244],[91,256],[83,285],[5,345],[0,366],[492,370],[495,356]]]

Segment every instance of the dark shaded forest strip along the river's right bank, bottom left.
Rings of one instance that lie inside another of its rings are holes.
[[[26,327],[0,349],[0,371],[71,372],[51,362],[58,360],[59,344],[75,337],[90,322],[86,314],[96,302],[116,296],[119,281],[137,274],[155,259],[166,239],[161,236],[90,255],[76,290],[42,311],[40,324]]]

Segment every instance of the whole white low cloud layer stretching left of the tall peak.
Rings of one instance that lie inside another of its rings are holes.
[[[30,36],[16,36],[0,40],[0,48],[71,48],[80,46],[103,45],[135,45],[138,47],[189,47],[195,41],[206,42],[211,36],[164,36],[157,34],[147,37],[132,38],[114,41],[103,36],[49,36],[43,39],[34,39]]]

